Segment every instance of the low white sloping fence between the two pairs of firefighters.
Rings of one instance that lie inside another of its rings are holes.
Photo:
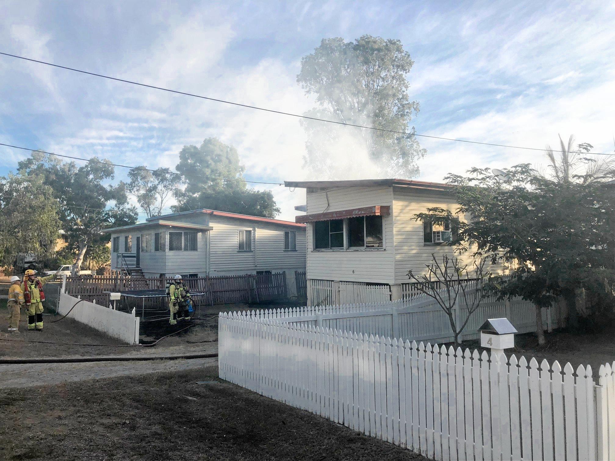
[[[79,301],[78,297],[65,293],[60,294],[58,313],[65,315],[77,301]],[[128,344],[139,342],[139,318],[135,316],[134,309],[131,313],[120,312],[93,302],[81,301],[67,317]]]

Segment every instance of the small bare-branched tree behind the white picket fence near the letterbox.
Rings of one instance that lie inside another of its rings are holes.
[[[464,264],[456,256],[443,254],[440,260],[432,253],[431,263],[425,265],[426,273],[416,275],[413,270],[408,270],[408,278],[413,280],[416,289],[435,299],[448,316],[456,343],[460,342],[459,335],[472,314],[488,296],[484,283],[490,276],[490,272],[485,270],[488,259],[483,257],[475,259],[472,264]],[[465,318],[458,315],[460,305],[467,308]]]

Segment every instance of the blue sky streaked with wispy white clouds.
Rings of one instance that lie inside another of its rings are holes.
[[[3,52],[290,112],[313,105],[295,77],[320,39],[397,38],[415,60],[418,133],[538,148],[573,134],[614,149],[613,2],[4,1],[2,16]],[[302,167],[293,117],[0,57],[0,142],[156,168],[208,136],[239,149],[247,179],[318,179]],[[418,179],[429,181],[542,162],[540,152],[421,144]],[[26,155],[0,147],[0,175]],[[292,219],[304,192],[272,191]]]

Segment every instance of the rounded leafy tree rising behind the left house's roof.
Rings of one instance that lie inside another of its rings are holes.
[[[207,138],[199,148],[184,146],[176,169],[185,175],[186,188],[176,193],[173,211],[210,208],[264,218],[280,213],[271,191],[248,189],[237,149],[216,138]]]

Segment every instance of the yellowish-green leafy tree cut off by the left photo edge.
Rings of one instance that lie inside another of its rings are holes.
[[[0,264],[18,253],[47,257],[60,230],[59,203],[42,176],[0,178]]]

